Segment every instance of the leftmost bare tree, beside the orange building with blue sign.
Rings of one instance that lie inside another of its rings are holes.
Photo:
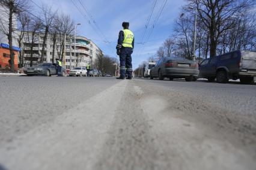
[[[2,0],[1,4],[4,7],[4,16],[1,16],[0,19],[0,30],[8,37],[10,68],[11,72],[14,72],[13,32],[17,26],[15,18],[18,13],[22,13],[27,3],[26,0]]]

